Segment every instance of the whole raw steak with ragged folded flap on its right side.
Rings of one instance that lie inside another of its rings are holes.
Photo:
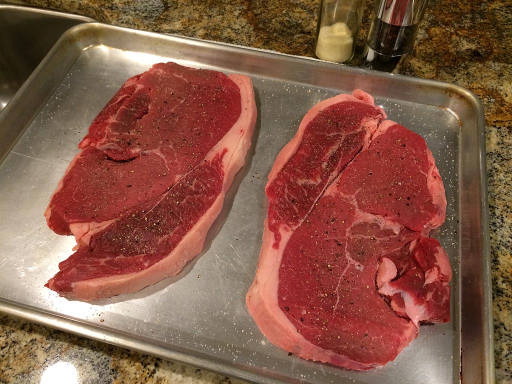
[[[385,365],[420,322],[450,319],[445,218],[424,140],[356,90],[317,104],[269,175],[247,306],[270,342],[355,370]]]

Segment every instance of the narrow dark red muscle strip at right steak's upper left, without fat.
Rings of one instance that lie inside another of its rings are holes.
[[[300,223],[326,185],[361,150],[368,134],[362,122],[369,116],[383,119],[373,105],[346,101],[328,106],[309,122],[297,151],[266,188],[275,247],[279,227]]]

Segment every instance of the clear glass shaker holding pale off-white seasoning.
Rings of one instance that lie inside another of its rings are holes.
[[[315,55],[347,62],[354,56],[364,0],[321,0],[316,28]]]

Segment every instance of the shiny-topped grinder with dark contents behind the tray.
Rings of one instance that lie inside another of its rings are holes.
[[[416,41],[428,0],[376,0],[363,58],[367,67],[392,71]]]

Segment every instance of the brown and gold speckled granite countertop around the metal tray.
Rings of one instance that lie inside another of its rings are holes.
[[[101,22],[313,56],[317,0],[28,0]],[[369,24],[367,1],[355,58]],[[512,383],[512,4],[432,0],[414,51],[394,72],[457,83],[485,110],[496,381]],[[43,382],[55,363],[79,382],[236,383],[195,368],[0,315],[0,383]],[[69,364],[71,363],[71,364]],[[48,377],[47,377],[48,378]],[[53,381],[52,381],[53,382]]]

